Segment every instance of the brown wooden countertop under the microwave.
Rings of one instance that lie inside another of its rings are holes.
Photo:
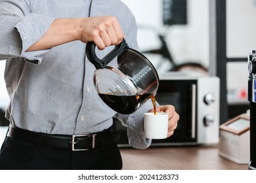
[[[202,146],[152,146],[146,150],[120,148],[124,170],[247,170],[219,156],[216,144]]]

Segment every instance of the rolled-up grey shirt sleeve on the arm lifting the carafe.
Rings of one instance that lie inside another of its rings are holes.
[[[23,57],[41,63],[49,50],[26,52],[51,26],[54,18],[32,13],[30,1],[0,3],[0,59]],[[4,25],[4,26],[3,26]]]

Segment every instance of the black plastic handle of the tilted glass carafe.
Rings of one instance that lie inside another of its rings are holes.
[[[108,63],[110,63],[112,59],[116,58],[116,56],[118,56],[124,48],[129,48],[129,46],[127,45],[125,39],[123,39],[120,44],[116,45],[115,48],[102,59],[96,56],[95,48],[96,44],[94,42],[87,42],[87,58],[89,59],[89,61],[91,61],[91,63],[93,63],[93,65],[95,65],[96,69],[104,69],[104,67],[106,67],[106,65],[108,65]]]

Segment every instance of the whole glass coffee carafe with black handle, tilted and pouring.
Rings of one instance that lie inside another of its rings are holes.
[[[100,59],[95,44],[88,42],[87,58],[96,67],[93,75],[95,89],[102,101],[116,112],[131,114],[156,94],[159,77],[150,61],[129,48],[125,39],[114,50]],[[117,61],[117,68],[108,66]]]

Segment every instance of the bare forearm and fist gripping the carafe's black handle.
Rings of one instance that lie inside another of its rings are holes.
[[[44,50],[71,41],[95,42],[100,50],[106,46],[119,44],[123,31],[114,16],[96,16],[90,18],[56,19],[28,51]]]

